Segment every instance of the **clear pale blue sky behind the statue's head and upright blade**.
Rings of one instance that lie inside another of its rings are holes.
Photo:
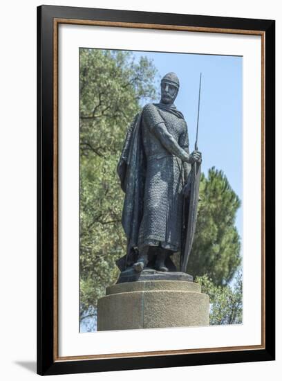
[[[133,52],[135,59],[147,56],[162,78],[174,71],[180,80],[175,105],[188,125],[190,152],[194,150],[198,116],[200,73],[200,114],[198,150],[203,154],[202,170],[207,175],[214,166],[223,170],[230,186],[242,200],[242,102],[243,57],[187,53]],[[160,79],[159,78],[159,79]],[[156,83],[160,86],[160,82]],[[236,227],[243,233],[243,215],[239,209]]]

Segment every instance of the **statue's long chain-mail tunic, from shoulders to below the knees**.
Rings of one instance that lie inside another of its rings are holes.
[[[178,151],[189,153],[187,124],[180,112],[149,104],[143,109],[140,127],[146,172],[138,249],[160,245],[179,251],[182,188],[190,166],[182,162]]]

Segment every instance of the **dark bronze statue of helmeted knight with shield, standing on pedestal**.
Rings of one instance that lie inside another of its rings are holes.
[[[197,147],[189,154],[187,124],[173,104],[179,87],[176,74],[167,73],[160,103],[144,106],[126,134],[118,163],[127,237],[126,256],[117,261],[121,271],[176,272],[171,255],[178,251],[180,271],[186,271],[202,157]]]

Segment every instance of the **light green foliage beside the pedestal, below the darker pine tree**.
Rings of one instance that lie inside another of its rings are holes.
[[[209,324],[242,323],[242,272],[237,273],[234,286],[216,286],[207,277],[198,276],[196,282],[202,286],[202,292],[209,295],[211,305]]]

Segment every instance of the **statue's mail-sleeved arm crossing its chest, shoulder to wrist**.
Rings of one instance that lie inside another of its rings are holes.
[[[176,139],[169,134],[167,127],[164,124],[164,121],[162,121],[156,107],[153,105],[145,106],[143,117],[145,118],[145,123],[149,126],[151,132],[153,132],[160,143],[162,143],[164,148],[166,148],[171,154],[179,157],[182,161],[189,163],[189,154],[187,154],[187,152],[180,147]]]

